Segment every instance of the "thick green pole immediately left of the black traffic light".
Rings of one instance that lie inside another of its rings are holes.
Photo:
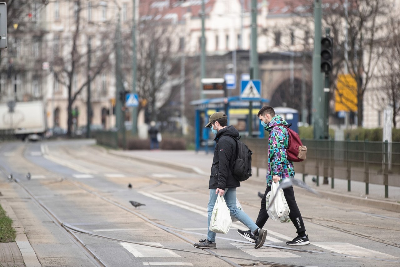
[[[312,122],[314,139],[324,135],[324,91],[322,90],[321,64],[321,0],[314,0],[314,55],[312,58]]]

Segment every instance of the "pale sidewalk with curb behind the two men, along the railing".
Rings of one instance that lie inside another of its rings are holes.
[[[208,177],[210,175],[210,168],[212,164],[213,152],[204,151],[188,151],[188,150],[108,150],[108,153],[130,157],[146,163],[157,162],[162,166],[178,168],[184,171],[195,172],[200,175]],[[260,184],[260,191],[266,185],[265,175],[266,169],[258,169],[259,176],[257,177],[257,170],[253,170],[253,176],[246,182]],[[301,173],[296,173],[296,178],[302,179]],[[319,179],[319,186],[312,181],[315,176],[308,175],[305,178],[306,184],[313,189],[317,190],[322,196],[337,200],[341,202],[348,202],[362,206],[374,206],[386,210],[400,212],[400,187],[389,186],[389,197],[385,198],[384,185],[370,184],[369,194],[365,194],[365,183],[351,182],[351,191],[348,192],[347,180],[338,179],[334,180],[334,188],[331,188],[331,179],[329,184],[322,184],[323,178]],[[262,186],[262,187],[261,187]]]

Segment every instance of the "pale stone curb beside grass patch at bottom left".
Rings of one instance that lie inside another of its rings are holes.
[[[15,241],[21,251],[22,259],[24,259],[25,266],[42,267],[38,260],[38,257],[36,256],[35,251],[28,241],[28,237],[26,237],[25,235],[24,227],[19,222],[17,216],[14,213],[14,210],[12,210],[7,200],[0,200],[0,203],[3,209],[6,211],[7,216],[12,219],[12,227],[16,231]]]

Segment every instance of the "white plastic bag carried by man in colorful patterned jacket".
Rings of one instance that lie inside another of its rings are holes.
[[[281,217],[284,217],[280,221],[282,223],[288,223],[288,222],[290,222],[290,219],[287,220],[290,209],[289,209],[288,203],[286,202],[286,198],[285,198],[282,188],[278,191],[278,186],[279,186],[279,182],[276,182],[276,183],[272,182],[271,191],[268,192],[268,194],[265,198],[266,206],[267,206],[267,213],[268,213],[268,216],[272,220],[280,220]],[[276,196],[274,202],[272,203],[272,205],[270,205],[269,200],[272,199],[275,194],[278,194],[278,196]],[[287,217],[287,218],[285,219],[285,217]]]

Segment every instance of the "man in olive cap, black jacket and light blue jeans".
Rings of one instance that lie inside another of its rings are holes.
[[[228,124],[228,116],[223,112],[216,112],[210,116],[210,120],[206,127],[210,127],[216,135],[214,141],[216,146],[214,149],[214,159],[211,166],[211,175],[208,188],[210,188],[210,198],[208,200],[208,234],[207,239],[201,239],[200,243],[194,244],[199,249],[216,249],[215,235],[210,231],[210,221],[212,210],[214,208],[217,196],[224,196],[226,205],[230,213],[246,225],[256,238],[255,249],[264,245],[267,231],[259,229],[251,218],[236,206],[236,188],[240,186],[240,182],[232,176],[231,166],[236,156],[236,141],[239,138],[239,132],[232,125]]]

